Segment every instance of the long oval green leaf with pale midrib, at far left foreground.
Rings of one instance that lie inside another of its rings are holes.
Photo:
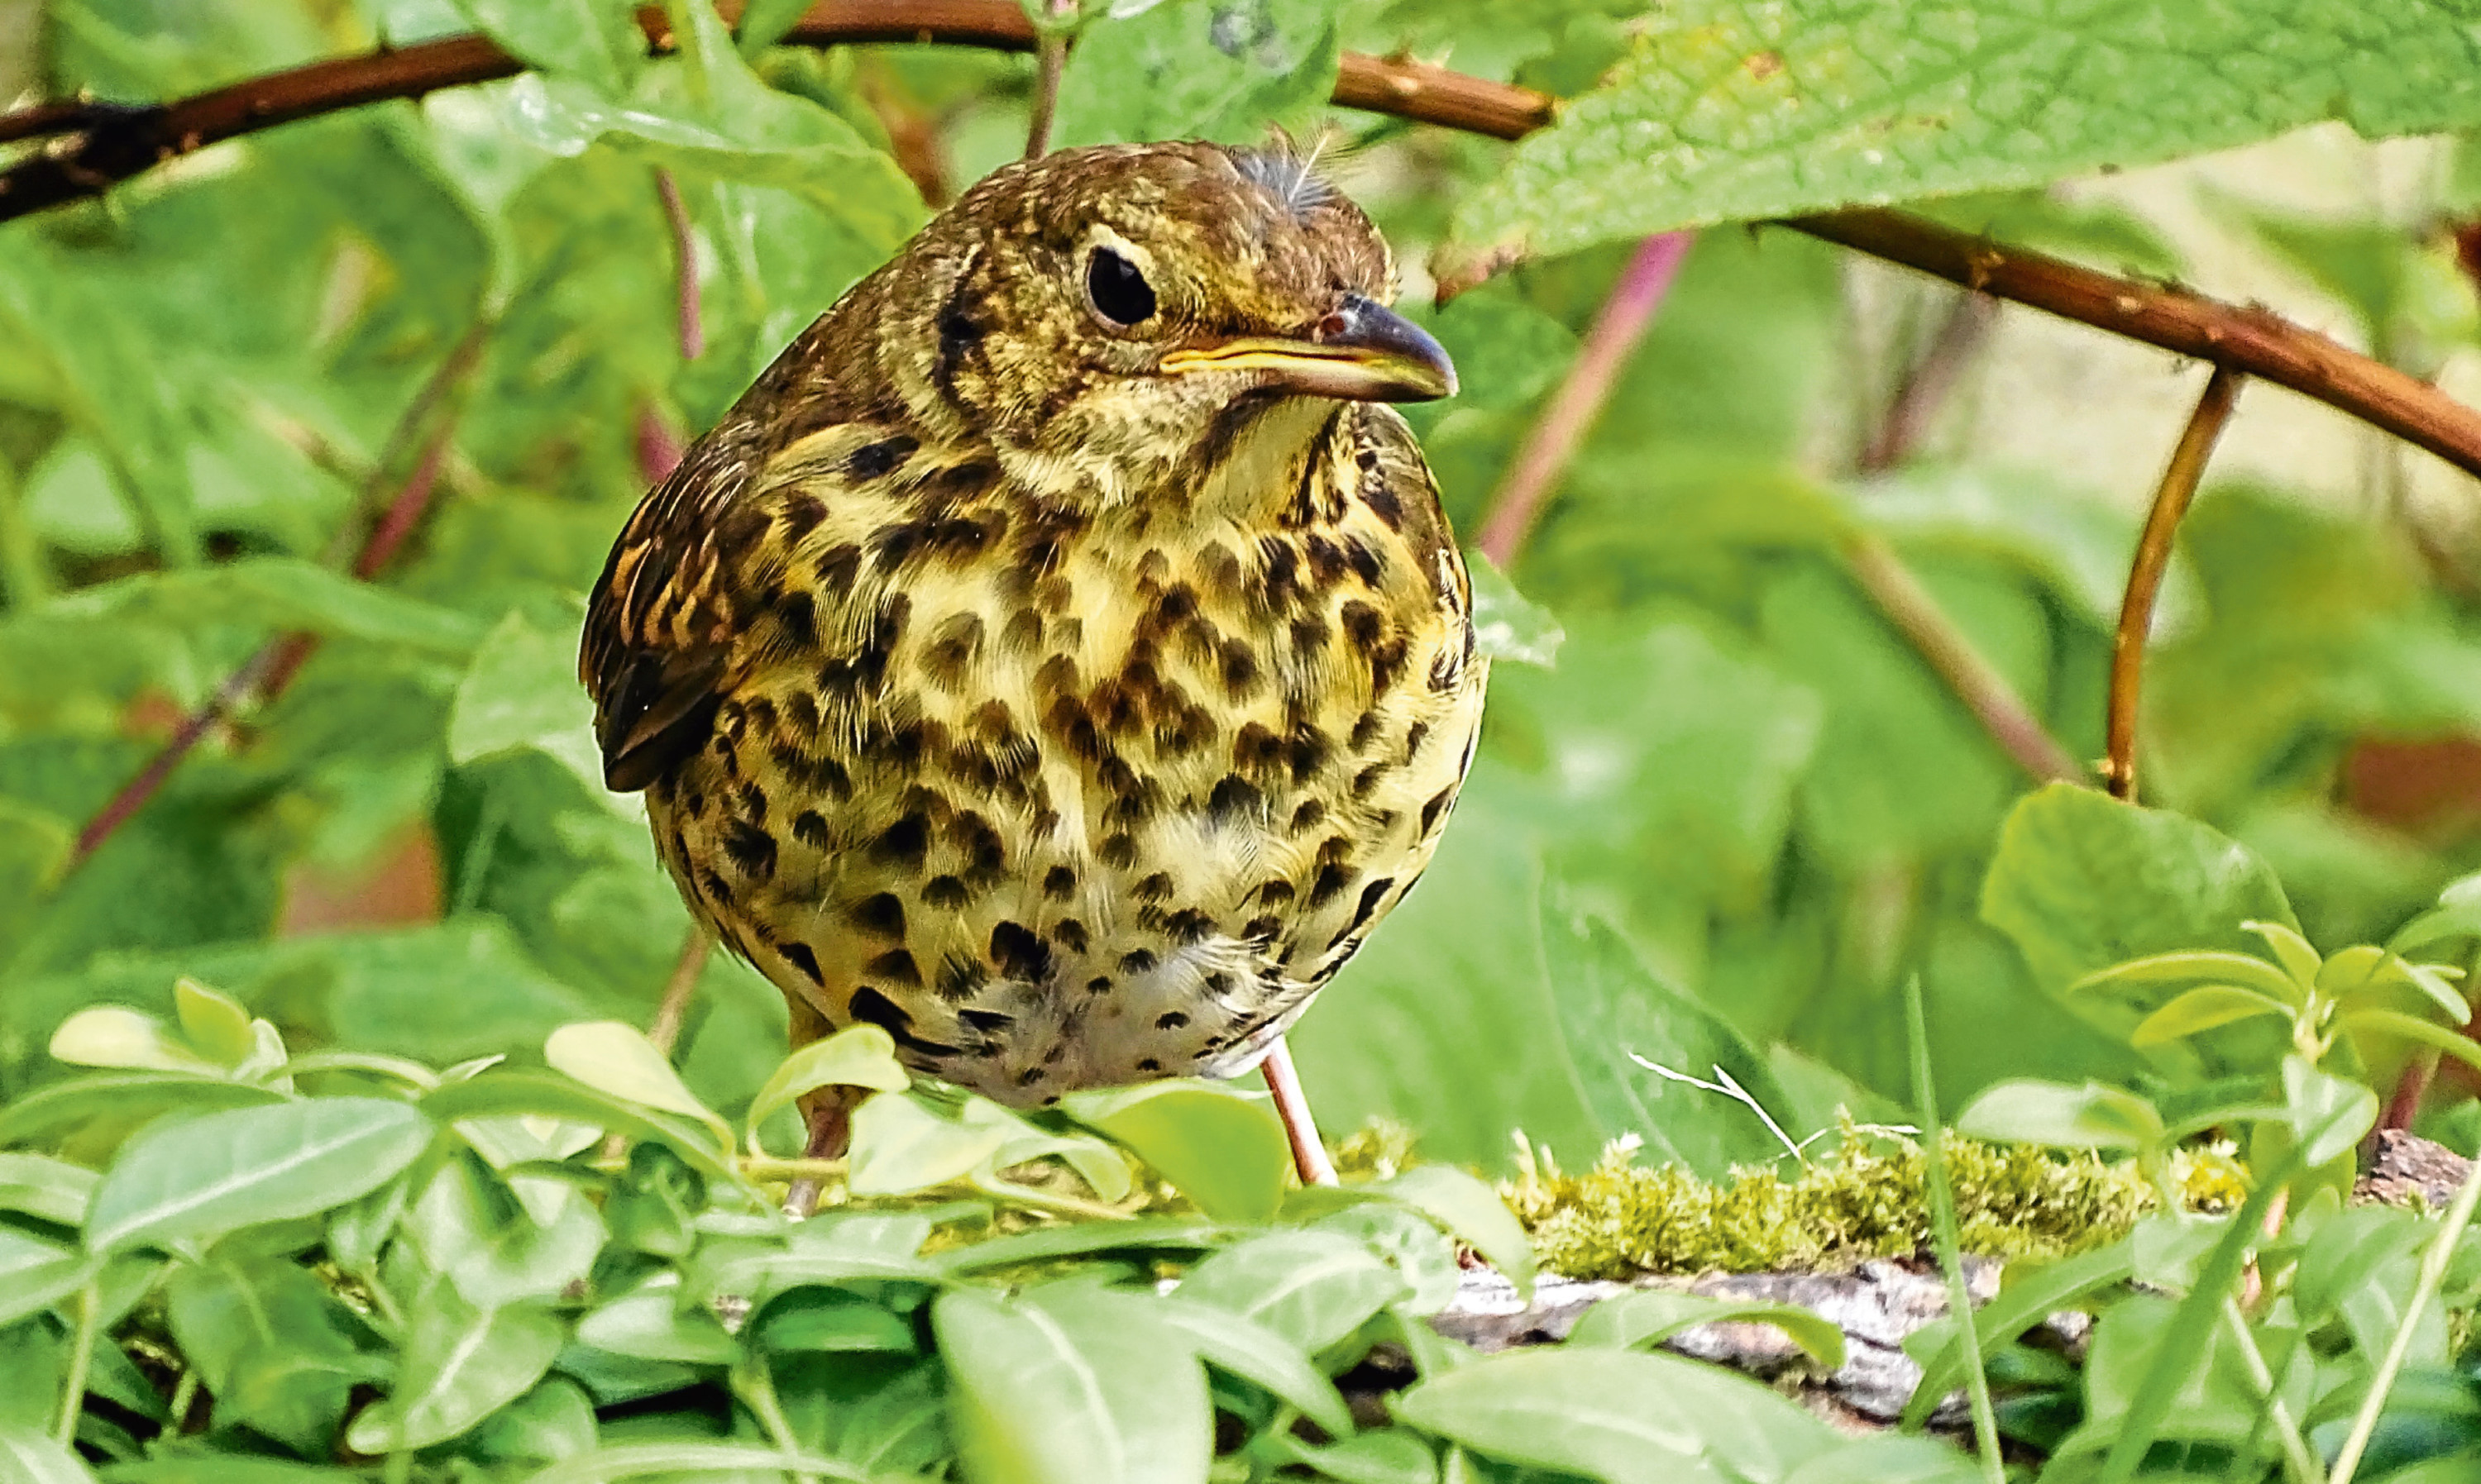
[[[87,1251],[206,1243],[241,1226],[342,1206],[412,1164],[429,1142],[422,1109],[377,1097],[313,1097],[154,1124],[94,1186]]]

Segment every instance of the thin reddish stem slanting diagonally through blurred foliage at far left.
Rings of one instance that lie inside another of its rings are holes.
[[[397,419],[397,429],[387,439],[387,449],[380,454],[380,464],[372,472],[375,484],[385,479],[390,464],[394,464],[394,449],[402,449],[412,429],[429,419],[432,409],[437,409],[449,387],[464,377],[479,352],[481,328],[474,328],[457,342],[457,350],[449,352],[447,362],[432,372],[422,390],[414,392],[404,417]],[[429,509],[432,491],[439,486],[439,472],[447,467],[452,432],[454,424],[442,422],[422,444],[422,457],[414,462],[414,472],[407,474],[394,499],[387,501],[387,509],[380,511],[380,519],[362,539],[362,548],[352,558],[352,576],[362,581],[377,576],[422,521]],[[181,759],[198,749],[198,742],[203,742],[208,732],[233,720],[233,715],[238,715],[253,697],[263,705],[283,695],[315,650],[315,633],[285,633],[258,645],[258,653],[226,675],[223,685],[218,685],[198,710],[181,717],[171,740],[166,740],[164,747],[146,759],[146,767],[141,767],[136,777],[122,784],[119,792],[114,792],[112,799],[107,799],[104,807],[87,819],[87,824],[77,831],[77,841],[69,846],[67,861],[62,861],[62,876],[84,866],[87,859],[92,859],[119,826],[129,824],[136,811],[164,789],[174,769],[181,767]]]

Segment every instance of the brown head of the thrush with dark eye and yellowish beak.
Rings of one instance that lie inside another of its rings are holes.
[[[1370,218],[1285,149],[1064,149],[1000,169],[881,270],[915,417],[1079,501],[1305,449],[1340,402],[1449,397]]]

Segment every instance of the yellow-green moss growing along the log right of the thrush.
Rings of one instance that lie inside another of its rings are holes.
[[[2072,1256],[2126,1236],[2154,1201],[2134,1164],[2091,1154],[1955,1134],[1945,1154],[1970,1253]],[[1791,1176],[1759,1166],[1709,1184],[1680,1169],[1640,1169],[1635,1144],[1620,1142],[1583,1174],[1528,1156],[1501,1194],[1553,1273],[1766,1273],[1925,1251],[1920,1174],[1918,1144],[1846,1119],[1838,1151]]]

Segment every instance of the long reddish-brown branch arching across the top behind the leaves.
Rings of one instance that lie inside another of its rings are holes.
[[[739,15],[739,5],[732,2],[719,10]],[[650,45],[665,50],[670,25],[662,12],[643,10],[638,20],[650,30]],[[1012,0],[826,0],[811,5],[784,42],[801,47],[945,42],[1030,52],[1035,27]],[[127,117],[107,122],[97,122],[94,109],[79,112],[65,104],[0,114],[0,136],[57,136],[55,149],[0,171],[0,221],[99,196],[117,181],[221,139],[516,72],[521,65],[489,40],[447,37],[270,72],[174,104],[129,109]],[[1558,99],[1528,87],[1362,52],[1342,57],[1335,104],[1491,139],[1521,139],[1558,112]],[[1992,298],[2243,370],[2350,412],[2481,476],[2481,412],[2270,310],[2096,273],[2044,253],[1997,248],[1898,211],[1838,211],[1791,218],[1784,226]]]

